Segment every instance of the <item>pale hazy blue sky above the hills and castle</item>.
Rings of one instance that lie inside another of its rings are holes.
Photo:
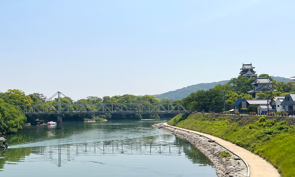
[[[295,75],[295,1],[0,1],[0,92],[161,94]]]

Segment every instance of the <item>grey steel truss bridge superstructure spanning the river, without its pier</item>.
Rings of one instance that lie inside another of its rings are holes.
[[[60,96],[64,96],[61,98]],[[57,98],[55,98],[57,96]],[[63,103],[62,103],[63,102]],[[43,103],[35,105],[17,105],[24,114],[142,114],[142,113],[185,113],[186,110],[179,103],[132,103],[132,104],[84,104],[76,102],[61,92],[56,92]]]

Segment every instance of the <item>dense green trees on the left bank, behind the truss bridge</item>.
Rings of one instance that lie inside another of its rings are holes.
[[[0,132],[17,132],[21,129],[25,122],[30,122],[35,119],[46,121],[56,121],[56,115],[24,115],[21,110],[14,105],[34,105],[38,103],[48,104],[46,96],[40,93],[33,93],[26,95],[23,91],[18,89],[9,89],[5,93],[0,92]],[[68,99],[61,98],[61,104],[67,104]],[[101,104],[101,103],[172,103],[170,99],[158,99],[152,95],[135,96],[125,94],[122,96],[104,96],[99,98],[96,96],[89,96],[86,99],[78,100],[84,104]],[[71,100],[70,104],[73,103]],[[51,104],[58,104],[57,98],[51,101]],[[150,119],[150,118],[172,118],[170,114],[64,114],[63,121],[84,121],[85,119]]]

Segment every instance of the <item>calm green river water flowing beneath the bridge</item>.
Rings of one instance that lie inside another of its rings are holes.
[[[216,176],[189,142],[152,128],[157,121],[63,123],[6,135],[1,176]],[[160,122],[160,121],[158,121]],[[161,120],[163,122],[163,120]]]

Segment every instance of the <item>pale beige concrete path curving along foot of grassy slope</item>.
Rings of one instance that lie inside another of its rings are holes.
[[[268,163],[266,160],[264,160],[263,158],[261,158],[258,155],[255,155],[253,153],[251,153],[250,151],[235,145],[231,142],[222,140],[221,138],[212,136],[212,135],[208,135],[205,133],[201,133],[201,132],[196,132],[193,130],[188,130],[188,129],[184,129],[184,128],[180,128],[180,127],[175,127],[175,126],[171,126],[168,125],[167,122],[165,123],[161,123],[165,126],[169,126],[169,127],[173,127],[173,128],[177,128],[180,130],[186,130],[189,132],[193,132],[208,138],[211,138],[212,140],[215,140],[216,142],[218,142],[219,144],[223,145],[224,147],[226,147],[227,149],[231,150],[232,152],[236,153],[237,155],[239,155],[241,158],[243,158],[249,165],[250,168],[250,177],[279,177],[281,176],[278,173],[278,170],[276,168],[273,167],[273,165],[271,165],[270,163]]]

